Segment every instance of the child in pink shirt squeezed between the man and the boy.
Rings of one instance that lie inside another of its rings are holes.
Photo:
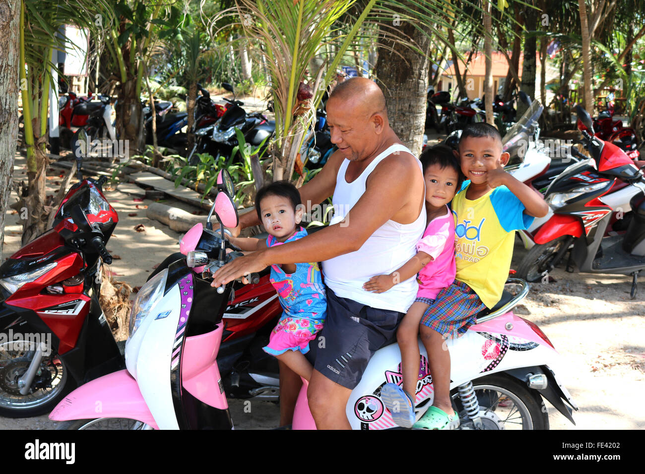
[[[363,285],[367,291],[382,293],[394,284],[406,281],[419,272],[419,291],[417,299],[405,315],[397,330],[397,342],[401,349],[402,388],[397,384],[385,384],[381,389],[381,398],[392,413],[392,418],[399,426],[411,428],[415,420],[415,396],[419,378],[419,323],[428,310],[428,306],[437,297],[439,291],[450,286],[455,280],[455,221],[448,203],[459,191],[462,181],[461,167],[452,150],[445,145],[429,148],[421,154],[423,176],[426,182],[426,215],[428,227],[421,241],[417,243],[417,255],[390,275],[377,275]],[[422,340],[428,352],[428,364],[432,373],[435,388],[435,400],[441,399],[442,387],[438,387],[445,367],[437,367],[437,354],[444,350],[442,342]],[[450,384],[450,367],[448,367],[448,384]],[[448,386],[448,394],[450,387]],[[450,397],[448,397],[450,400]],[[442,411],[437,406],[430,410]],[[442,411],[448,419],[453,417]],[[422,427],[425,428],[425,427]],[[448,426],[444,427],[448,428]]]

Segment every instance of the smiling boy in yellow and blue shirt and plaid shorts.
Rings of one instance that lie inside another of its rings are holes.
[[[461,134],[455,151],[467,180],[452,201],[455,216],[455,282],[440,291],[421,319],[421,339],[434,343],[462,335],[477,322],[479,311],[501,299],[508,278],[515,230],[549,210],[542,196],[504,171],[510,155],[502,153],[497,129],[472,124]],[[459,426],[450,399],[450,353],[428,354],[434,386],[433,406],[414,425],[426,430]],[[402,390],[401,390],[402,393]],[[409,406],[408,397],[400,406]]]

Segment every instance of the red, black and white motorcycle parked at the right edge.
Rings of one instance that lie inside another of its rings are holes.
[[[639,272],[645,268],[642,168],[618,146],[591,134],[591,117],[581,106],[576,112],[590,130],[582,130],[582,135],[591,158],[580,153],[584,159],[566,168],[546,190],[552,212],[535,233],[536,245],[522,259],[517,275],[537,281],[570,250],[570,272],[575,263],[579,272],[632,275],[633,299]],[[610,235],[610,230],[615,232]]]

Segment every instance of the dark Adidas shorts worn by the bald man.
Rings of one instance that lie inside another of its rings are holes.
[[[405,313],[371,308],[340,298],[326,288],[327,317],[323,330],[309,343],[307,359],[325,377],[353,389],[375,351],[396,342]]]

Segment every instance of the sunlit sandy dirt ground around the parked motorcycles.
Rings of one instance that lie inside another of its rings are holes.
[[[16,155],[14,180],[26,180],[25,158]],[[48,185],[53,191],[61,178],[52,168]],[[141,286],[155,265],[178,249],[181,235],[164,224],[146,218],[149,200],[132,193],[133,185],[117,186],[106,192],[119,213],[119,224],[107,248],[121,257],[112,263],[117,280]],[[141,193],[141,191],[139,191]],[[10,203],[16,200],[12,193]],[[172,201],[168,202],[174,205]],[[144,232],[135,226],[143,224]],[[5,244],[2,259],[20,247],[19,213],[6,215]],[[513,256],[517,265],[523,253],[519,239]],[[511,268],[513,268],[511,266]],[[645,281],[634,300],[630,300],[631,277],[566,273],[558,268],[551,273],[553,281],[531,284],[531,291],[516,313],[540,326],[561,353],[566,373],[558,375],[573,396],[580,410],[573,417],[573,426],[557,410],[549,406],[553,430],[608,430],[645,428],[645,410],[640,400],[645,396]],[[231,400],[236,428],[275,428],[279,407],[272,402],[252,402],[250,413],[238,400]],[[0,417],[0,429],[48,430],[55,423],[46,415],[31,419]]]

